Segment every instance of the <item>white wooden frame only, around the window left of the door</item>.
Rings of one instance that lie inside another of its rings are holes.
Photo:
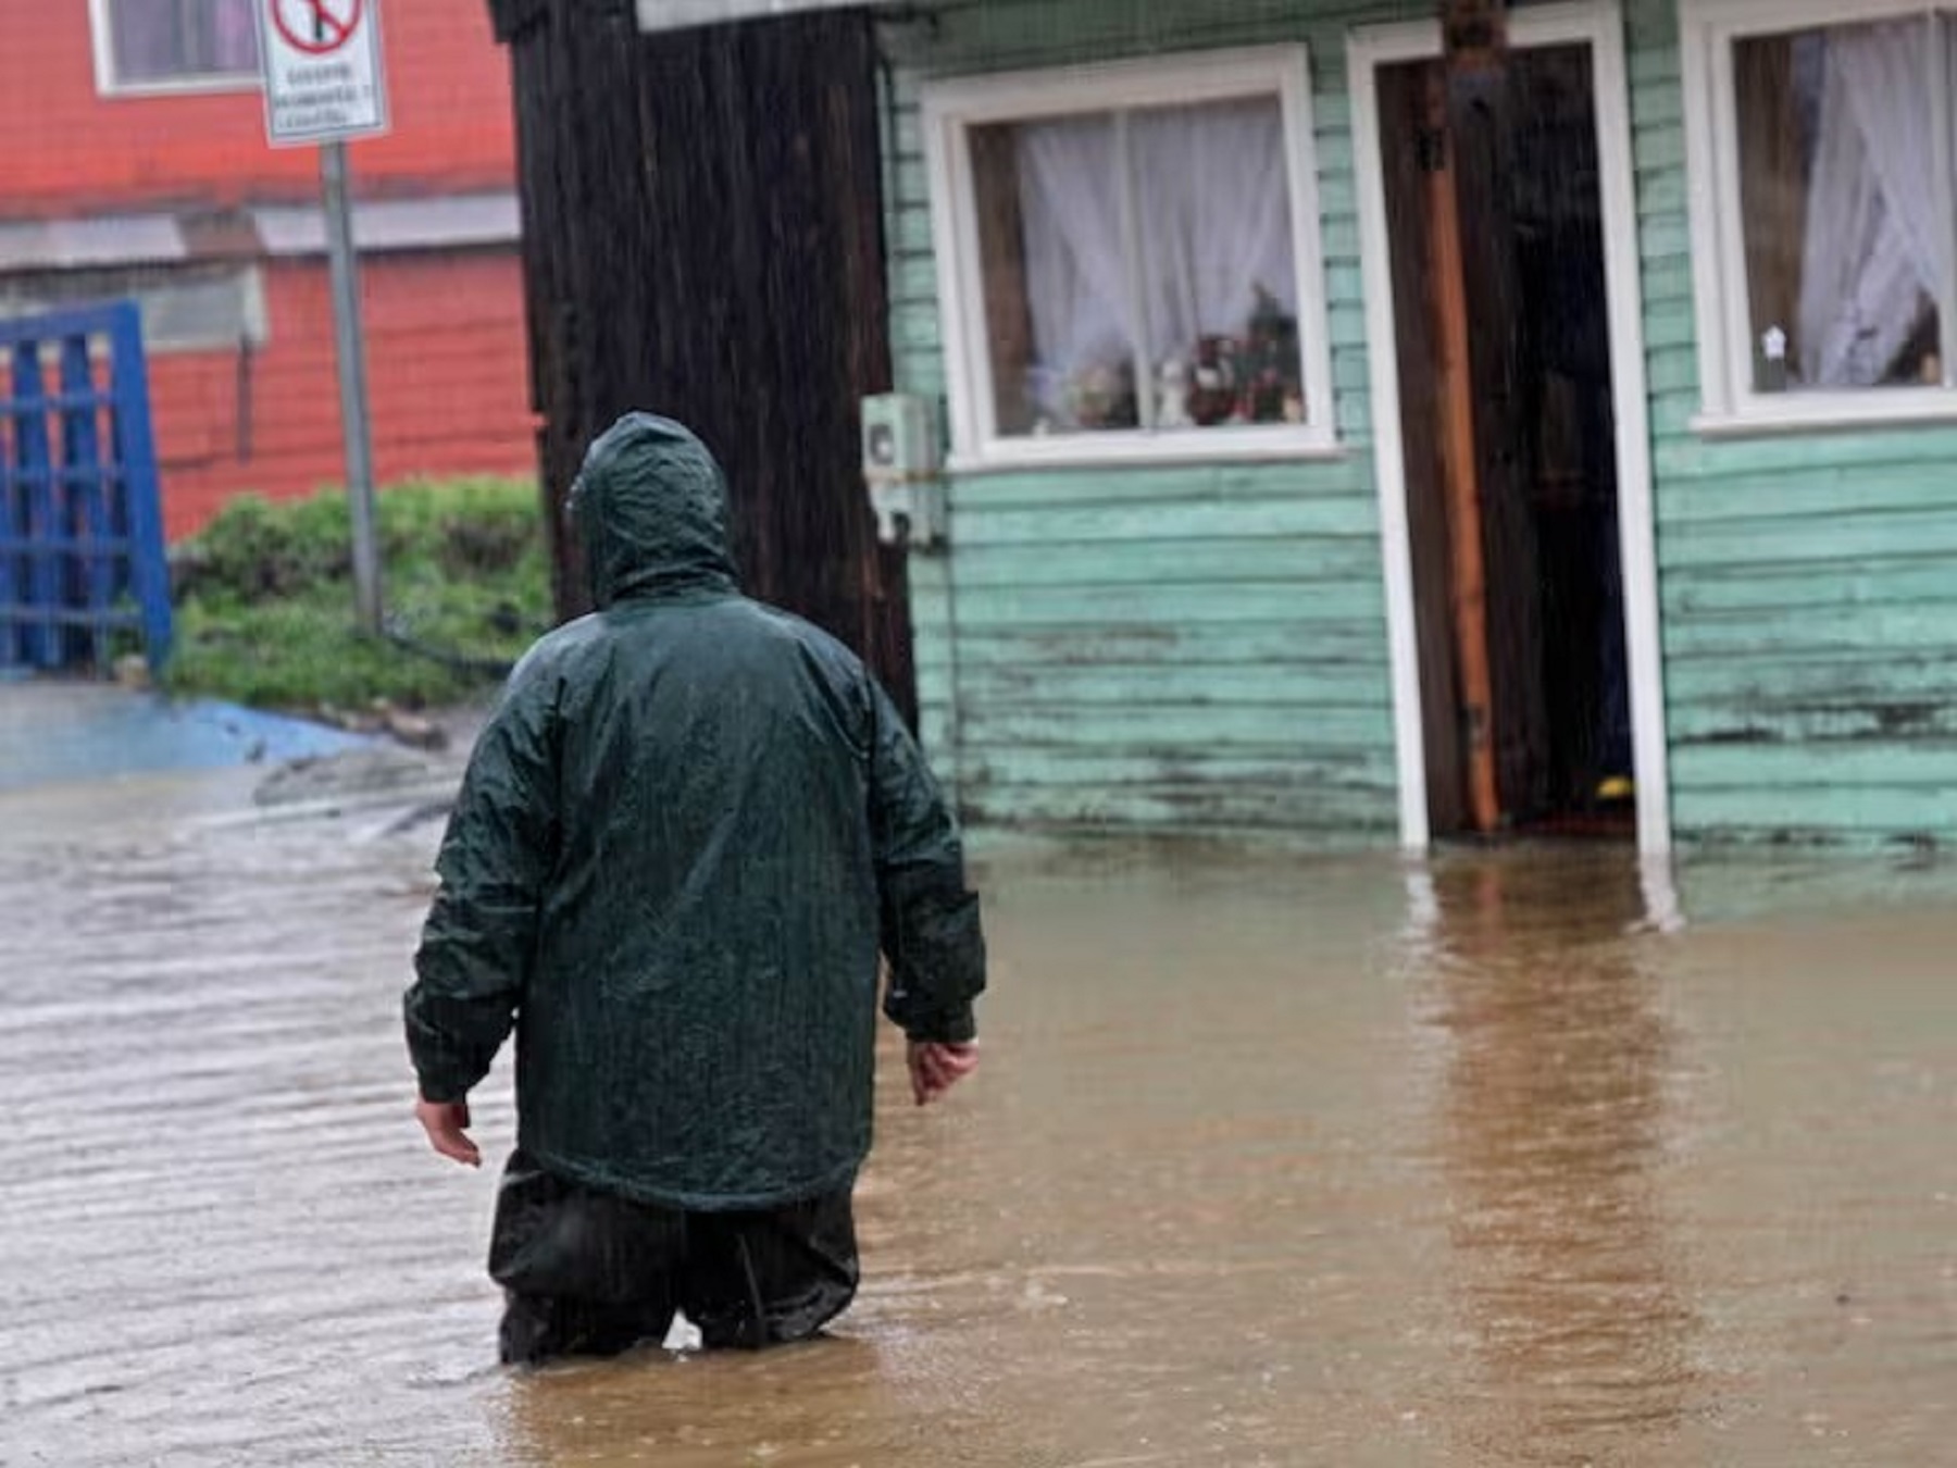
[[[1112,429],[1049,436],[1000,435],[992,350],[984,327],[971,129],[1033,117],[1186,106],[1249,96],[1276,96],[1280,104],[1286,180],[1292,190],[1292,256],[1297,270],[1305,421],[1209,429]],[[937,299],[943,313],[953,470],[1313,458],[1343,452],[1333,417],[1333,354],[1325,309],[1325,256],[1319,239],[1311,67],[1305,47],[1209,51],[957,78],[926,86],[922,108],[932,233],[937,252]]]

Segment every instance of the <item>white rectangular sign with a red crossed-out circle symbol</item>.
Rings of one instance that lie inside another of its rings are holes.
[[[378,0],[258,0],[272,147],[387,131]]]

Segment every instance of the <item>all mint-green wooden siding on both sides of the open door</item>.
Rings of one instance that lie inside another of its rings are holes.
[[[1389,842],[1395,769],[1344,41],[1433,4],[992,0],[892,25],[898,386],[945,364],[930,74],[1311,49],[1337,460],[965,476],[912,558],[924,736],[998,822]],[[1712,440],[1699,413],[1673,0],[1630,0],[1673,824],[1681,840],[1957,840],[1957,427]]]

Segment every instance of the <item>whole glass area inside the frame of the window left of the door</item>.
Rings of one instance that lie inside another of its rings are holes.
[[[1000,435],[1303,421],[1274,96],[969,139]]]

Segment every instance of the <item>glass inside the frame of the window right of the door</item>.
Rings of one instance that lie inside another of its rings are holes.
[[[1941,382],[1932,25],[1734,45],[1740,211],[1759,391]],[[1941,33],[1937,33],[1941,43]]]

